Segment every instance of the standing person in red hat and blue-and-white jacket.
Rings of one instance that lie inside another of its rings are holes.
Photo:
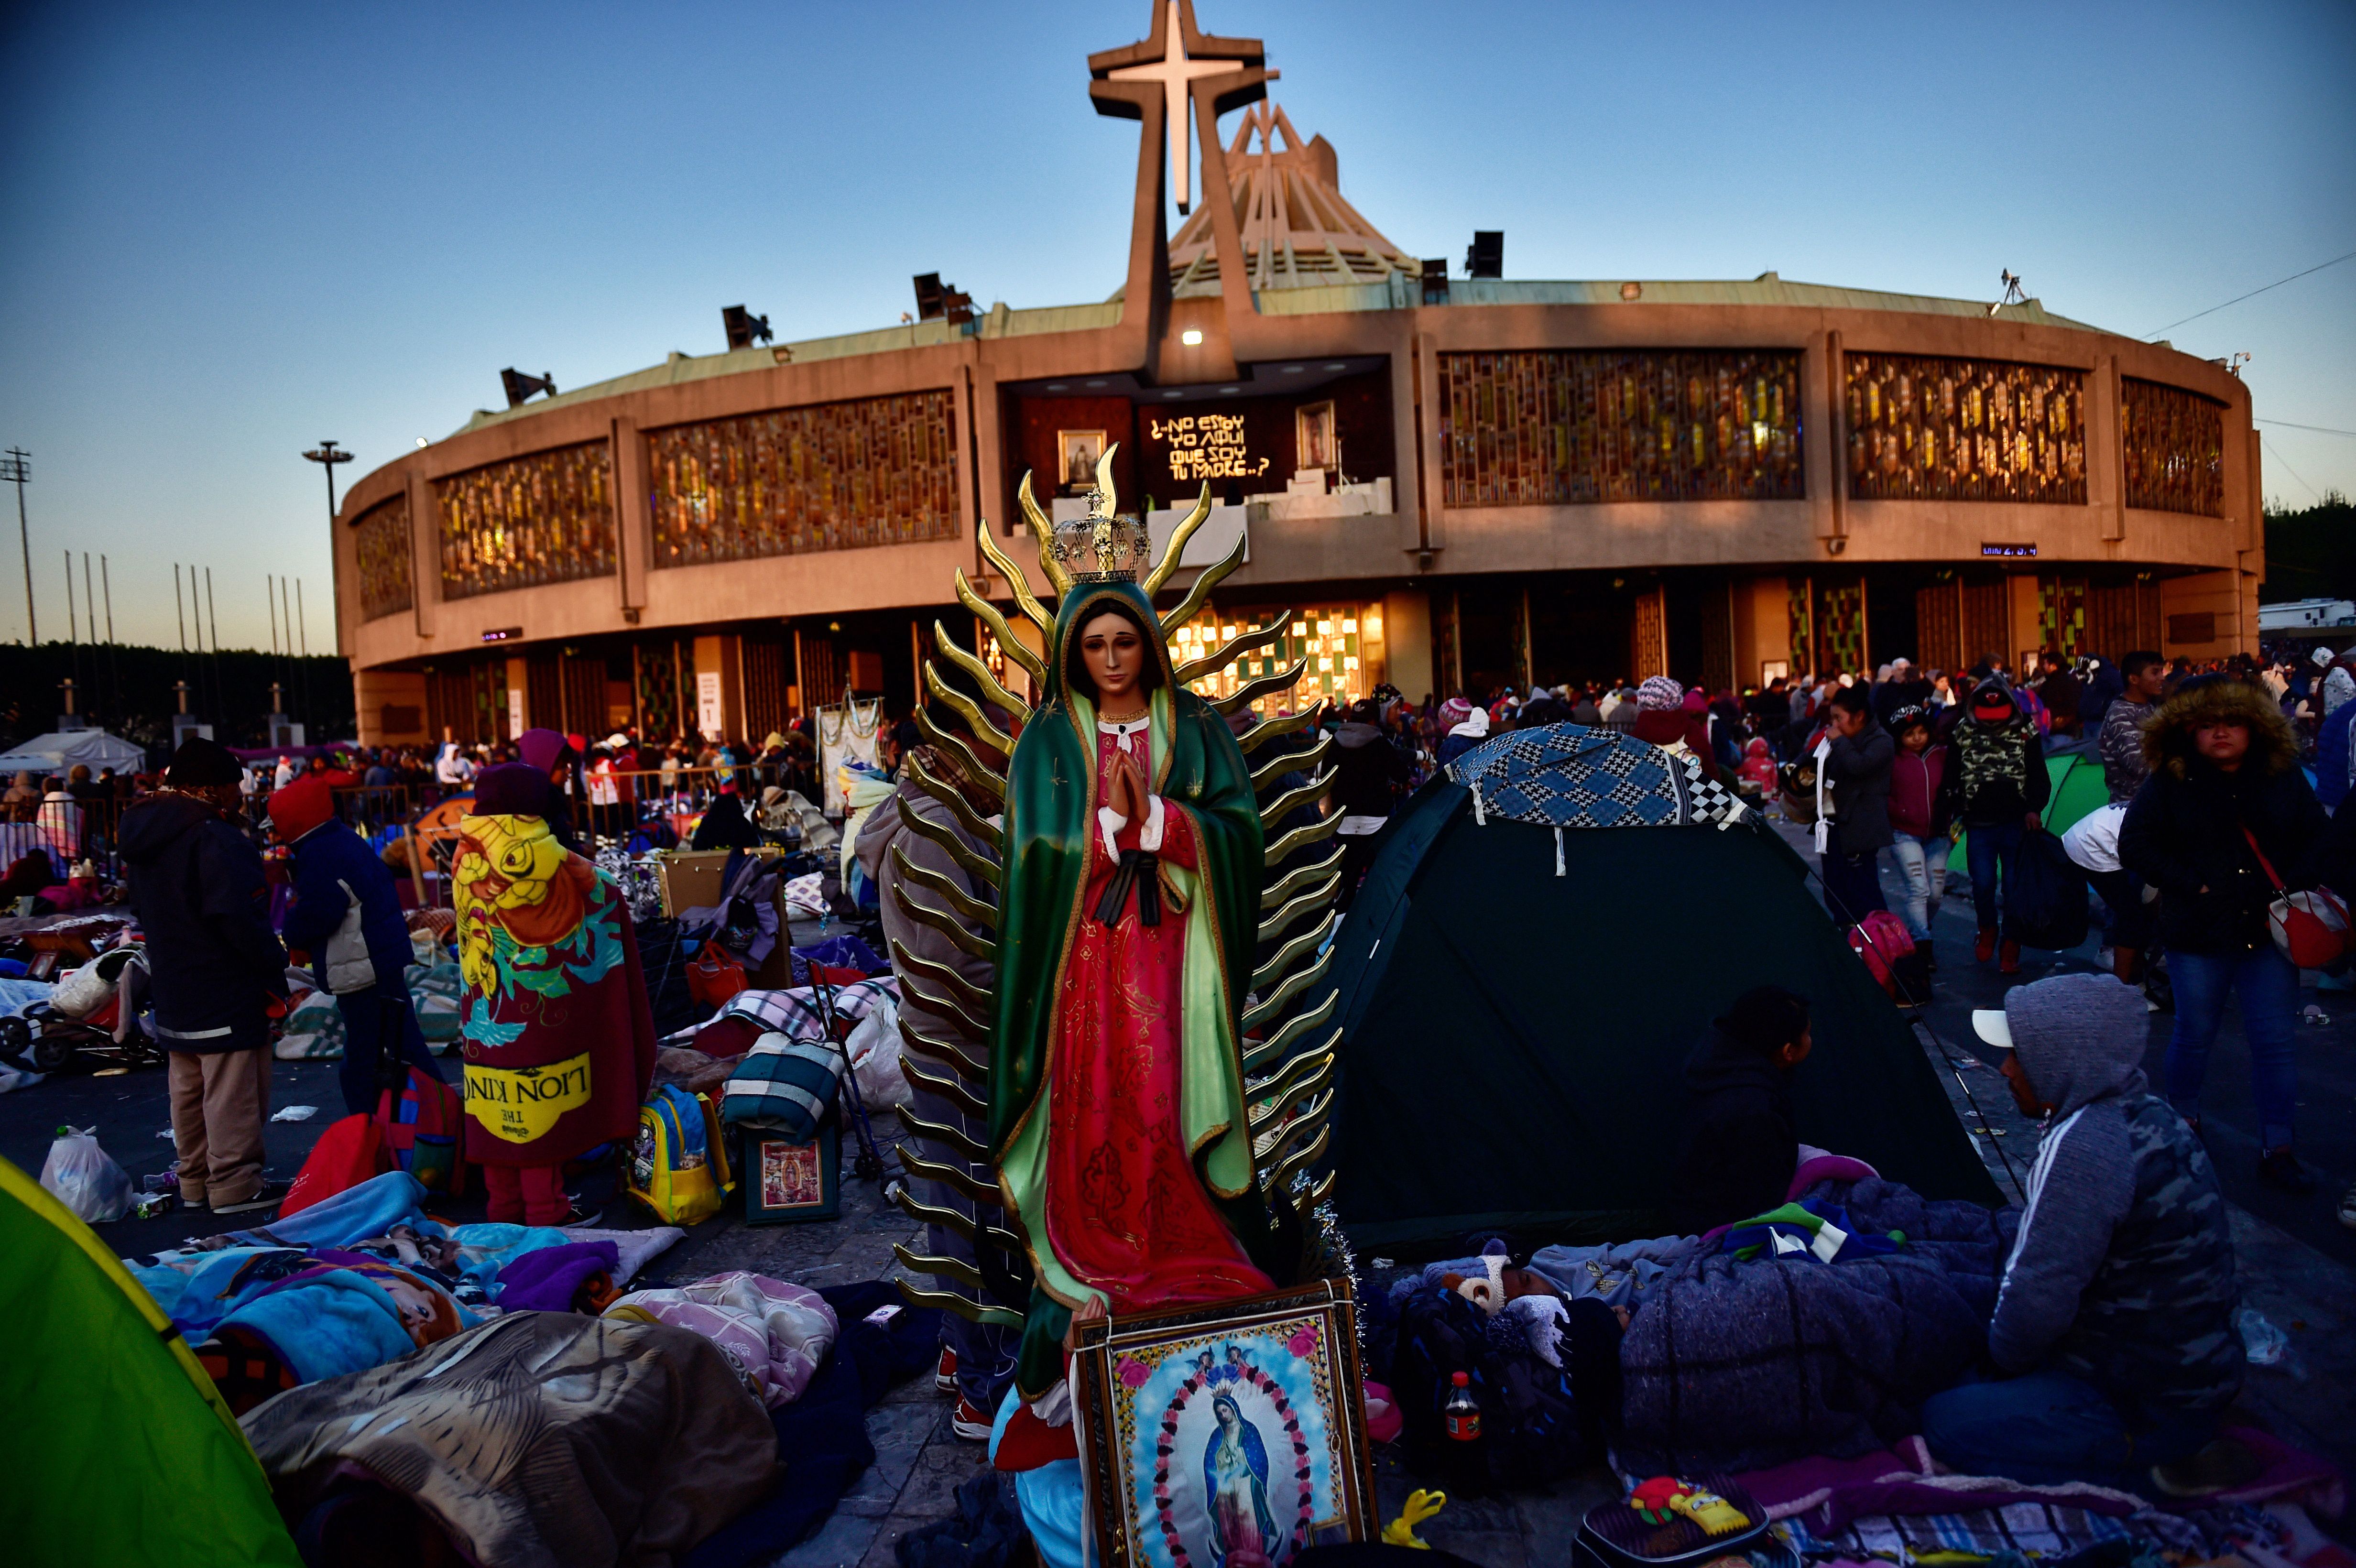
[[[335,996],[344,1015],[344,1067],[337,1074],[344,1111],[377,1109],[386,1041],[441,1081],[410,1005],[410,928],[401,918],[393,873],[335,817],[335,796],[318,775],[304,775],[271,796],[271,836],[294,852],[287,946],[311,956],[318,986]]]

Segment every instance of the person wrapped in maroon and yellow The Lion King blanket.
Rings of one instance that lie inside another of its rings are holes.
[[[563,1168],[636,1132],[655,1019],[622,895],[556,843],[547,808],[547,775],[504,763],[476,777],[457,826],[466,1158],[492,1220],[589,1224]]]

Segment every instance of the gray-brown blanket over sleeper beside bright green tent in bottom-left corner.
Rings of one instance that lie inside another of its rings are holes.
[[[476,1563],[667,1568],[759,1502],[777,1436],[686,1328],[518,1311],[243,1420],[299,1521],[356,1464]]]

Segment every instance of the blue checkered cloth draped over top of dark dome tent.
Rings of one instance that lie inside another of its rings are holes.
[[[1508,730],[1449,763],[1449,777],[1472,791],[1482,824],[1727,829],[1751,810],[1699,758],[1588,725]]]

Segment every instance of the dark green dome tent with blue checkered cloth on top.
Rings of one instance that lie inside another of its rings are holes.
[[[1609,730],[1465,753],[1383,829],[1336,935],[1350,1241],[1661,1234],[1685,1059],[1769,982],[1814,1010],[1800,1142],[1932,1198],[2000,1201],[1906,1019],[1755,812]]]

